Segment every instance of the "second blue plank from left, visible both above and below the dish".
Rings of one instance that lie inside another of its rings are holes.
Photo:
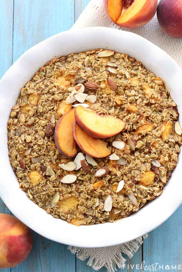
[[[74,0],[15,0],[13,62],[33,45],[68,30],[73,23]],[[52,242],[35,232],[32,234],[31,253],[22,264],[13,267],[12,272],[75,272],[75,256],[66,245]]]

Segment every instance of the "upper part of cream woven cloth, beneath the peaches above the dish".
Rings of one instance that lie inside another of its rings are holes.
[[[182,68],[182,39],[173,39],[166,35],[159,26],[156,15],[145,26],[137,29],[123,28],[115,25],[106,15],[103,0],[91,0],[72,29],[91,26],[112,27],[136,33],[162,48]]]

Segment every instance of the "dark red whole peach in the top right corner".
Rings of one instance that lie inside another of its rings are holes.
[[[182,0],[161,0],[157,19],[162,30],[172,38],[182,38]]]

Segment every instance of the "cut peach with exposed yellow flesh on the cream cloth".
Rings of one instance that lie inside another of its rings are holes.
[[[157,0],[104,0],[112,21],[129,28],[147,24],[157,10],[157,3]]]

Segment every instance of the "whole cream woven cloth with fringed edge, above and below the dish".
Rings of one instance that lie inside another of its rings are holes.
[[[166,51],[182,68],[182,39],[173,39],[167,36],[160,28],[156,15],[145,26],[137,29],[126,29],[115,25],[106,15],[103,0],[91,0],[72,29],[91,26],[112,27],[136,33]],[[88,259],[87,264],[93,269],[99,270],[102,267],[106,267],[109,272],[114,272],[117,268],[122,269],[125,264],[126,259],[121,254],[124,253],[132,258],[133,254],[143,243],[143,239],[147,237],[148,235],[145,234],[143,237],[139,237],[123,245],[106,248],[77,248],[69,246],[68,249],[73,254],[76,254],[80,260],[84,261]]]

